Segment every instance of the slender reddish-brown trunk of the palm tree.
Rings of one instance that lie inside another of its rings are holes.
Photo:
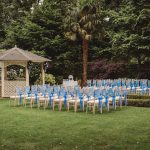
[[[87,62],[88,62],[88,41],[82,41],[82,49],[83,49],[83,73],[82,73],[82,86],[87,85]]]

